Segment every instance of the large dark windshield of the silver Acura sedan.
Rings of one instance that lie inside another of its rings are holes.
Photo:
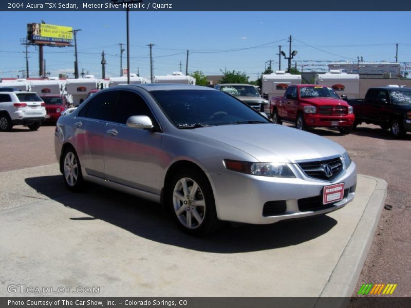
[[[151,92],[179,128],[270,123],[263,115],[221,91],[156,90]]]

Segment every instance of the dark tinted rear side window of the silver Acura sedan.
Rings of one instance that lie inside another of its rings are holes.
[[[107,91],[99,93],[98,95],[96,94],[96,96],[90,99],[87,105],[80,110],[79,117],[110,121],[117,97],[118,91]]]

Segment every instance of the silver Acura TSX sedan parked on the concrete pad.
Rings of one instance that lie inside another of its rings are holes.
[[[339,144],[190,85],[99,91],[59,118],[55,155],[70,190],[89,181],[161,203],[194,236],[224,221],[329,213],[354,198],[357,183]]]

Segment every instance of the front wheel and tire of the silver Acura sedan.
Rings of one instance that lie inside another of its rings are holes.
[[[217,218],[211,185],[198,170],[180,170],[169,183],[166,202],[177,225],[186,234],[209,235],[222,225]]]

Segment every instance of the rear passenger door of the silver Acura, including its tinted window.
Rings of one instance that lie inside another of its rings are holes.
[[[99,178],[104,175],[105,131],[117,101],[117,91],[99,93],[79,111],[74,122],[76,150],[87,174]]]

